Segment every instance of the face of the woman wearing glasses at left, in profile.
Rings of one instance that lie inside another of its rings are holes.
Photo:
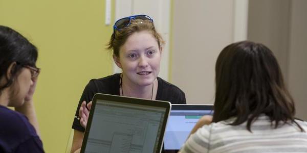
[[[30,69],[21,69],[21,72],[11,87],[9,106],[18,107],[25,103],[25,98],[29,93],[31,85],[33,84],[31,78],[32,76]]]

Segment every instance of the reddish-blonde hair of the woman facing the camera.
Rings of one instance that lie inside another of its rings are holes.
[[[126,42],[129,36],[135,32],[148,31],[156,38],[159,47],[164,44],[164,40],[161,35],[156,31],[155,25],[150,20],[131,20],[128,27],[121,30],[115,30],[111,36],[110,41],[107,44],[107,49],[113,49],[113,55],[119,57],[119,49]]]

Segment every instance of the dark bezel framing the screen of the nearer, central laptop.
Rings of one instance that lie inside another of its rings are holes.
[[[157,151],[161,152],[162,146],[163,146],[163,140],[166,130],[166,124],[168,120],[168,116],[170,114],[171,110],[171,104],[168,101],[161,101],[161,100],[148,100],[148,99],[142,99],[142,98],[133,98],[133,97],[123,97],[118,95],[109,95],[109,94],[102,94],[102,93],[96,93],[92,100],[92,107],[89,114],[89,119],[87,120],[86,129],[84,131],[84,137],[82,141],[82,146],[80,152],[85,152],[87,139],[89,138],[94,110],[96,108],[97,100],[107,100],[107,101],[115,101],[117,103],[128,103],[128,104],[135,104],[135,105],[143,105],[143,106],[152,106],[152,107],[161,107],[165,108],[165,115],[163,119],[163,124],[161,128],[160,133],[160,140],[158,142]]]

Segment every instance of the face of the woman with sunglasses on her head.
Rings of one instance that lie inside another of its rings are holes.
[[[155,37],[147,31],[135,32],[120,47],[116,64],[123,70],[126,83],[147,86],[158,77],[161,48]]]

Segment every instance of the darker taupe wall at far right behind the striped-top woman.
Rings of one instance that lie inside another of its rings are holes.
[[[250,0],[248,39],[266,44],[275,54],[297,109],[307,120],[307,1]]]

